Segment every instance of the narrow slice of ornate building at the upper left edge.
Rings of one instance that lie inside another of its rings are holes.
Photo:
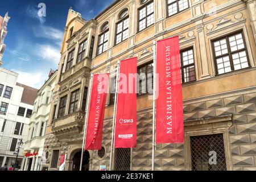
[[[7,23],[9,22],[10,17],[8,13],[5,14],[5,17],[0,16],[0,67],[3,64],[2,57],[3,52],[5,52],[6,45],[3,44],[5,36],[7,34]]]

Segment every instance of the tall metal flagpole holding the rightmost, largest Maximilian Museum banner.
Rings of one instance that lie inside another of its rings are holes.
[[[154,72],[153,72],[153,121],[152,121],[152,171],[155,170],[155,79],[156,79],[156,41],[153,42],[154,53],[153,53],[153,61],[154,61]]]

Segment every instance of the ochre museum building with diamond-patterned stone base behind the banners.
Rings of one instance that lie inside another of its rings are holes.
[[[118,60],[136,56],[138,73],[152,73],[153,40],[179,36],[185,142],[158,144],[155,170],[255,170],[255,17],[255,0],[114,1],[88,22],[69,10],[44,167],[57,170],[67,154],[65,169],[79,169],[90,73],[110,73],[114,90]],[[114,150],[113,170],[151,170],[149,95],[138,94],[137,147]],[[85,152],[84,169],[109,170],[113,101],[109,94],[103,148]],[[208,163],[211,151],[217,165]]]

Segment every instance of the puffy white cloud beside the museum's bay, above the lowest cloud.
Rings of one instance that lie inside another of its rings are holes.
[[[37,48],[37,55],[43,60],[51,61],[56,65],[60,61],[60,50],[49,44],[39,44]]]

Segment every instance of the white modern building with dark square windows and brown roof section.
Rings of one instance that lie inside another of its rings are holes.
[[[0,165],[15,164],[16,146],[26,142],[37,89],[17,82],[18,73],[0,68]],[[23,146],[22,146],[23,148]],[[24,163],[22,148],[18,154],[18,168]]]

